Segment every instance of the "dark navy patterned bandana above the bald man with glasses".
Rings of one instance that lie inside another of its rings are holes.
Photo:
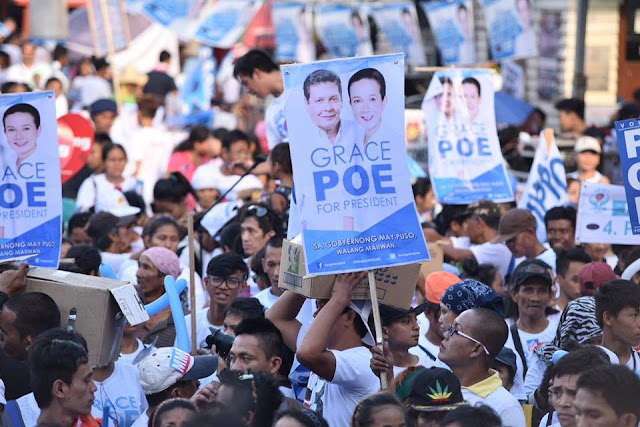
[[[486,308],[505,317],[502,298],[482,282],[465,279],[451,286],[440,301],[456,315],[472,308]]]

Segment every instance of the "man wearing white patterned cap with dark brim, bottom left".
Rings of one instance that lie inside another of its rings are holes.
[[[140,384],[149,409],[131,427],[146,426],[149,416],[165,400],[190,399],[198,390],[198,380],[212,375],[217,368],[217,356],[194,357],[175,347],[153,350],[138,363]]]

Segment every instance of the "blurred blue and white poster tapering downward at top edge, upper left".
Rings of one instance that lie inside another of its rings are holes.
[[[208,0],[148,0],[142,9],[158,23],[174,30],[183,41],[190,40],[206,10]]]

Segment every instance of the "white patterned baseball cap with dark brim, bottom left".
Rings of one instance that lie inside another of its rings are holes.
[[[191,356],[179,348],[161,347],[138,363],[145,394],[168,389],[178,381],[206,378],[218,369],[217,356]]]

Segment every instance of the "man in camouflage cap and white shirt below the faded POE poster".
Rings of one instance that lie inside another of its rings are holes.
[[[465,212],[463,227],[469,235],[471,247],[457,249],[444,245],[445,258],[464,261],[473,258],[478,264],[491,264],[505,277],[513,269],[514,260],[504,242],[494,243],[498,236],[500,207],[488,200],[480,200],[469,205]],[[490,285],[490,283],[488,283]]]

